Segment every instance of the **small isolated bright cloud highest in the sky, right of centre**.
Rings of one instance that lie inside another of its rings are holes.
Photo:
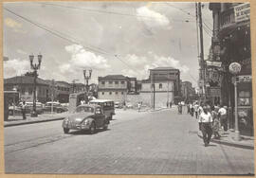
[[[137,20],[143,22],[147,27],[170,27],[169,19],[148,7],[137,9]]]

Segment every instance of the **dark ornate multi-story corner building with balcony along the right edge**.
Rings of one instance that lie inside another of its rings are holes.
[[[234,76],[229,72],[229,64],[238,62],[242,68],[238,80],[239,128],[243,133],[253,134],[252,86],[251,86],[251,47],[250,47],[250,4],[249,3],[210,3],[213,17],[210,64],[219,62],[217,67],[209,67],[209,86],[219,87],[213,92],[220,95],[220,103],[234,108]],[[210,72],[210,70],[214,71]],[[214,74],[214,75],[213,75]],[[210,75],[212,77],[210,77]],[[217,78],[217,80],[216,80]],[[210,83],[210,80],[217,83]],[[209,94],[209,98],[212,98]],[[214,97],[214,96],[213,96]],[[229,126],[234,127],[234,117],[229,117]]]

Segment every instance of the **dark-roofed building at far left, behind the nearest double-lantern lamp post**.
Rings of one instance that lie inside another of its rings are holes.
[[[4,90],[11,91],[16,89],[19,93],[19,98],[28,102],[33,101],[34,77],[32,76],[17,76],[4,80]],[[36,80],[36,100],[46,102],[50,97],[49,85],[46,80],[37,78]]]

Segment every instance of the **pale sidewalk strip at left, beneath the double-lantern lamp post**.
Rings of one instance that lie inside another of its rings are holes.
[[[33,124],[39,122],[47,122],[47,121],[54,121],[54,120],[62,120],[65,116],[67,116],[67,112],[60,113],[60,114],[43,114],[38,115],[36,117],[31,117],[27,115],[26,120],[23,120],[22,116],[9,116],[8,121],[4,121],[4,127],[10,126],[17,126],[17,125],[24,125],[24,124]]]

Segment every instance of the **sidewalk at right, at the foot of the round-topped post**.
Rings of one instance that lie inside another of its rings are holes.
[[[235,133],[231,130],[228,130],[227,132],[220,132],[221,137],[220,139],[211,138],[211,142],[232,146],[236,148],[242,148],[242,149],[248,149],[248,150],[254,150],[254,136],[245,136],[241,135],[241,140],[236,141],[234,139]],[[197,135],[202,138],[203,135],[200,131],[198,131]]]

